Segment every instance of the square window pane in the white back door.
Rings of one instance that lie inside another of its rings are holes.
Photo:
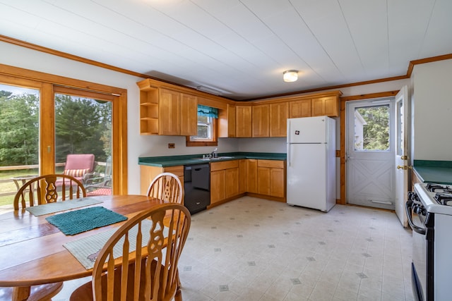
[[[389,105],[355,109],[355,150],[389,150]]]

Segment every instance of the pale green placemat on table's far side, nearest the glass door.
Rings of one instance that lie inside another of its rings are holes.
[[[33,207],[27,207],[25,208],[25,210],[27,210],[28,212],[30,212],[30,214],[33,214],[34,216],[40,216],[44,214],[51,214],[59,211],[85,207],[93,204],[99,204],[103,202],[103,199],[106,199],[106,197],[83,197],[81,199],[69,199],[64,202],[54,202]]]

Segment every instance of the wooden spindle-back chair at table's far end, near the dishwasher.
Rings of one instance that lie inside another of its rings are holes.
[[[182,184],[174,173],[160,173],[149,185],[148,196],[182,204]]]

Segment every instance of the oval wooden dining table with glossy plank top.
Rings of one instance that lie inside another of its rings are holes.
[[[160,199],[144,195],[110,195],[97,198],[103,202],[87,207],[102,206],[129,219],[144,209],[164,203]],[[62,212],[64,211],[54,214]],[[34,216],[25,209],[19,209],[0,215],[0,287],[14,287],[14,295],[23,295],[24,292],[29,292],[31,285],[90,276],[93,270],[85,269],[63,245],[117,228],[125,222],[77,235],[65,235],[59,228],[47,222],[46,218],[54,214]]]

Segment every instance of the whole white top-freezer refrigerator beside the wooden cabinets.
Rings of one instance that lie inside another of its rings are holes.
[[[287,204],[328,212],[336,203],[335,120],[287,119]]]

